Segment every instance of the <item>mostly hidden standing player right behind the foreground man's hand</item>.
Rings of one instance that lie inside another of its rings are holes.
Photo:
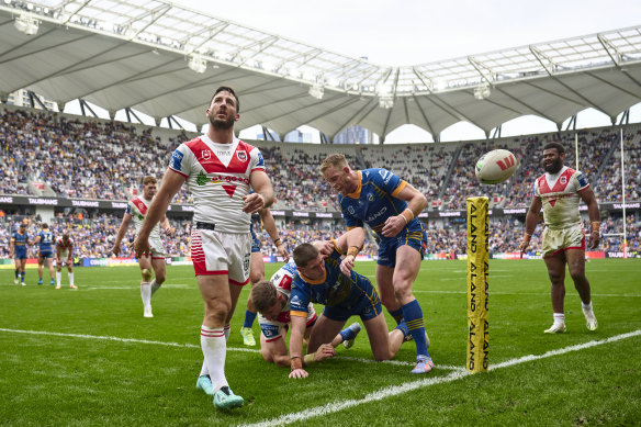
[[[260,216],[262,226],[273,241],[278,254],[283,258],[284,262],[288,262],[290,260],[290,255],[278,235],[275,221],[269,209],[260,210],[260,215],[251,216]],[[254,288],[256,283],[265,279],[265,261],[262,260],[262,252],[260,251],[260,240],[256,237],[256,233],[254,232],[254,222],[250,223],[249,231],[251,233],[251,265],[249,268],[249,282],[251,283],[251,288]],[[254,307],[251,299],[248,297],[247,310],[245,311],[245,323],[240,328],[240,335],[243,336],[243,344],[250,347],[256,346],[256,339],[254,339],[254,334],[251,333],[251,326],[254,325],[255,319],[256,308]]]

